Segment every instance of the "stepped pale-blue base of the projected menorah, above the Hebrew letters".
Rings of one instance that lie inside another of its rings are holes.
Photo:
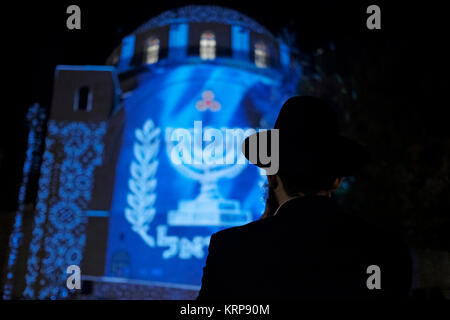
[[[178,210],[169,211],[171,226],[238,226],[251,222],[249,211],[242,211],[236,200],[208,199],[180,201]]]

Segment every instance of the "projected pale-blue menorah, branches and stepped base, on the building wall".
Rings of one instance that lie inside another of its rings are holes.
[[[182,140],[174,141],[175,130],[182,130],[181,135],[175,134],[178,138],[182,137]],[[216,134],[214,142],[205,147],[203,147],[201,132],[195,134],[195,129],[175,130],[166,128],[166,151],[169,161],[177,172],[198,181],[200,192],[192,200],[181,200],[177,210],[169,211],[167,224],[235,226],[250,222],[250,212],[241,210],[239,201],[225,199],[218,187],[220,179],[236,177],[247,165],[239,152],[246,136],[244,130],[207,129],[205,132],[214,130]],[[235,130],[240,130],[240,134],[235,134]],[[227,138],[223,139],[224,136]],[[178,143],[175,144],[177,141]]]

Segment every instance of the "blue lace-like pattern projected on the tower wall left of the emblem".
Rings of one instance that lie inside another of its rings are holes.
[[[86,241],[85,210],[93,172],[101,164],[105,122],[49,121],[24,297],[65,298],[66,268],[79,265]],[[64,152],[55,152],[63,146]],[[55,192],[56,191],[56,192]],[[58,196],[49,197],[49,194]]]

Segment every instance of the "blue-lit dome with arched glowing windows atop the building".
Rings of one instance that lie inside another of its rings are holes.
[[[107,59],[119,73],[177,62],[291,66],[289,47],[248,16],[228,8],[191,5],[165,11],[139,26]]]

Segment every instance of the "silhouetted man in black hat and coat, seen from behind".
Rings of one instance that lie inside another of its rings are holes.
[[[279,170],[267,176],[266,211],[213,234],[198,299],[407,297],[407,247],[345,214],[331,197],[367,163],[364,148],[338,134],[336,114],[314,97],[290,98],[275,129]],[[244,141],[247,159],[257,147],[251,141]]]

